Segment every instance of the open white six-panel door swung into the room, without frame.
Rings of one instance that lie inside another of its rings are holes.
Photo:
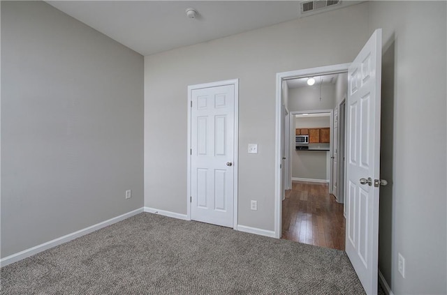
[[[377,294],[382,31],[348,70],[346,253],[367,294]]]

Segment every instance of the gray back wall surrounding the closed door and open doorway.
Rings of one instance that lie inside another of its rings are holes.
[[[367,8],[145,56],[145,206],[186,214],[186,87],[239,78],[238,223],[274,230],[276,74],[353,61],[369,37]],[[247,153],[249,143],[258,144],[256,155]]]

